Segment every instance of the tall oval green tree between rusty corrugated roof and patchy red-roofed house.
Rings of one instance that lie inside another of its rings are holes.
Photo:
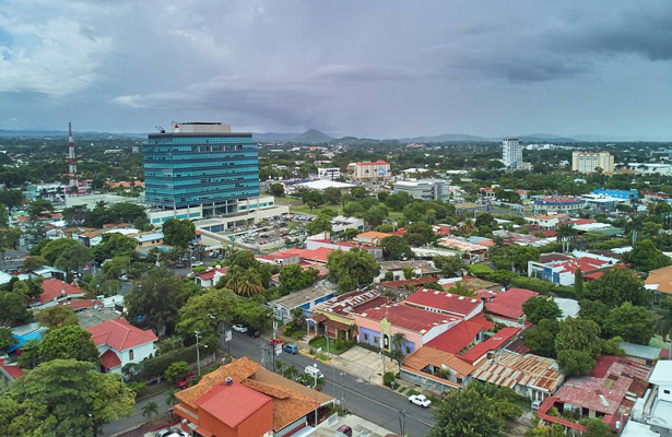
[[[568,317],[559,322],[555,351],[559,367],[570,376],[587,375],[602,352],[600,327],[592,320]]]

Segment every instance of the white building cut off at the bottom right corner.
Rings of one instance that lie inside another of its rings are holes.
[[[633,408],[630,422],[641,425],[640,434],[635,436],[670,436],[672,435],[672,362],[656,363],[649,388],[642,398],[637,399]],[[645,434],[645,432],[651,434]]]

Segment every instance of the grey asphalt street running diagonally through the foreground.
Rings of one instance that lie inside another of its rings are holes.
[[[231,353],[234,357],[247,356],[261,363],[261,345],[266,340],[252,339],[244,333],[233,332]],[[224,346],[226,351],[226,346]],[[299,371],[316,363],[304,355],[282,354],[276,359],[293,364]],[[327,383],[323,392],[337,399],[344,399],[344,408],[354,414],[399,433],[400,411],[405,410],[405,430],[411,437],[424,437],[434,424],[432,411],[413,405],[408,398],[379,386],[368,383],[353,375],[341,375],[340,370],[318,362]]]

